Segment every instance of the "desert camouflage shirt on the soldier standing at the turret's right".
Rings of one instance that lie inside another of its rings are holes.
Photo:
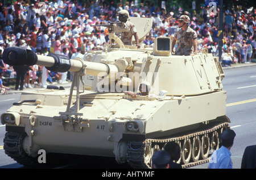
[[[196,32],[188,27],[186,31],[180,28],[174,35],[177,39],[175,55],[189,56],[192,53],[193,39],[197,38]]]

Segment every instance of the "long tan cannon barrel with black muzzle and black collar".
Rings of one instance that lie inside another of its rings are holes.
[[[35,52],[29,49],[19,47],[5,48],[3,51],[3,62],[11,66],[42,65],[54,72],[67,72],[68,70],[71,72],[79,72],[86,67],[86,74],[93,76],[98,76],[98,74],[102,72],[107,74],[110,72],[118,72],[118,68],[115,65],[72,60],[67,56],[54,53],[48,56],[36,55]]]

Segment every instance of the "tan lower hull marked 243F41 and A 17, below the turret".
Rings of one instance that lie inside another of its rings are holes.
[[[214,136],[217,138],[216,132],[220,132],[221,128],[226,128],[228,125],[223,123],[228,122],[225,117],[225,91],[183,98],[166,97],[163,101],[148,97],[131,99],[129,95],[123,93],[85,91],[80,95],[80,114],[84,120],[77,122],[59,118],[61,114],[59,112],[64,112],[67,106],[68,94],[67,90],[22,93],[20,101],[36,98],[42,103],[23,103],[11,107],[8,112],[18,112],[20,122],[7,125],[6,135],[8,136],[10,132],[12,136],[14,133],[26,133],[22,147],[31,157],[38,156],[38,150],[44,149],[48,153],[92,156],[115,157],[118,154],[117,160],[121,163],[131,158],[126,156],[126,151],[129,150],[128,146],[132,146],[135,142],[141,145],[141,150],[147,149],[147,152],[150,149],[140,161],[151,156],[155,150],[162,149],[168,141],[177,141],[180,145],[184,145],[181,142],[190,140],[192,145],[193,139],[199,136],[201,136],[199,141],[203,136],[208,136],[209,142],[206,141],[208,146],[205,147],[207,148],[205,153],[208,154],[210,149],[217,148],[218,140],[214,141]],[[73,102],[76,102],[75,94]],[[209,116],[210,114],[212,115]],[[128,129],[129,123],[138,124],[139,128]],[[16,140],[5,139],[5,149],[9,155],[8,149],[12,147],[13,150],[14,142]],[[123,146],[126,146],[127,150]],[[190,151],[188,153],[192,153],[192,149]],[[200,154],[200,151],[197,153]],[[126,160],[119,158],[120,155],[125,156]],[[188,157],[181,161],[184,166],[189,165],[190,160],[187,159]],[[150,167],[150,162],[147,161],[146,164],[131,162],[131,166]]]

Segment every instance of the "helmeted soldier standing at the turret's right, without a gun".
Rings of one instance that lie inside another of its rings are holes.
[[[196,32],[188,26],[190,18],[187,15],[181,15],[179,18],[179,30],[175,33],[172,40],[172,52],[177,42],[175,55],[193,55],[197,52]],[[193,47],[193,52],[192,52]]]

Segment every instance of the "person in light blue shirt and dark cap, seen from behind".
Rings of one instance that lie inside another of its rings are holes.
[[[213,152],[208,169],[233,169],[230,149],[233,146],[235,136],[236,133],[232,129],[221,133],[222,146]]]

